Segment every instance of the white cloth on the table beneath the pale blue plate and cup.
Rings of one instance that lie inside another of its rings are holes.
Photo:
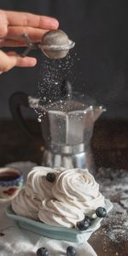
[[[28,173],[33,164],[15,163],[20,169]],[[4,208],[6,204],[0,203],[0,256],[36,256],[38,247],[47,247],[50,256],[66,256],[67,247],[72,245],[76,248],[77,256],[96,256],[93,248],[85,241],[84,243],[72,243],[68,241],[52,240],[38,236],[31,231],[20,229],[15,221],[8,218]]]

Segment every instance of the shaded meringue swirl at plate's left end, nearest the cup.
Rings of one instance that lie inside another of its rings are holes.
[[[26,218],[33,218],[38,220],[38,208],[40,201],[31,199],[26,195],[25,189],[21,189],[20,193],[12,201],[12,208],[14,212]]]

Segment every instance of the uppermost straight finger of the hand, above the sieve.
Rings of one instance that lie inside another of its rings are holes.
[[[56,29],[58,20],[48,16],[32,15],[23,12],[5,11],[9,26],[32,26],[43,29]]]

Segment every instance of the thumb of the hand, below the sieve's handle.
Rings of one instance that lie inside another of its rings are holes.
[[[0,50],[0,71],[7,72],[13,67],[34,67],[37,63],[37,60],[32,57],[20,57],[14,55],[15,52],[9,52],[5,54]]]

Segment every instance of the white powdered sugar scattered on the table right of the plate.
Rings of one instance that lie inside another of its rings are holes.
[[[96,179],[102,194],[113,202],[113,211],[103,222],[104,240],[108,236],[116,243],[128,241],[128,171],[101,168]]]

